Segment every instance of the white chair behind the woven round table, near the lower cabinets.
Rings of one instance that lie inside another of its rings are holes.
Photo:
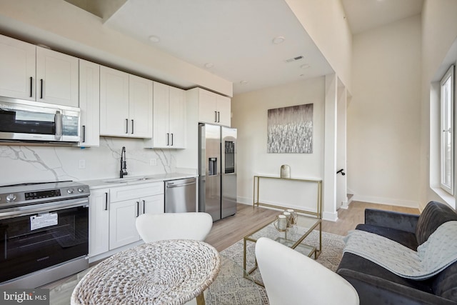
[[[213,219],[208,213],[141,214],[136,230],[145,242],[162,239],[195,239],[204,241],[211,231]]]

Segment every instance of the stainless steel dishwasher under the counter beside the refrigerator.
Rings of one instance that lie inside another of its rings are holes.
[[[165,213],[196,211],[196,178],[165,181]]]

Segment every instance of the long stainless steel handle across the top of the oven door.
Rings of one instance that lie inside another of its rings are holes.
[[[78,206],[89,207],[89,199],[74,199],[68,201],[54,201],[46,204],[34,204],[31,206],[16,206],[14,208],[4,209],[0,211],[0,219],[9,219],[19,216],[27,216],[31,214],[59,211],[63,209],[76,208]]]

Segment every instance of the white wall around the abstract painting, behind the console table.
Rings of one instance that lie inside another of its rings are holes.
[[[233,96],[231,125],[238,129],[238,202],[252,204],[253,175],[279,176],[282,164],[291,166],[292,177],[323,179],[324,97],[323,77]],[[310,103],[313,103],[313,154],[267,154],[268,109]],[[278,202],[270,203],[300,201],[303,198],[300,187],[294,190],[278,194],[272,188],[269,200]],[[313,204],[313,198],[309,202]]]

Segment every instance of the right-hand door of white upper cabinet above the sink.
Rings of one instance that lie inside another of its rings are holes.
[[[153,81],[129,75],[130,136],[150,138],[152,134]]]

